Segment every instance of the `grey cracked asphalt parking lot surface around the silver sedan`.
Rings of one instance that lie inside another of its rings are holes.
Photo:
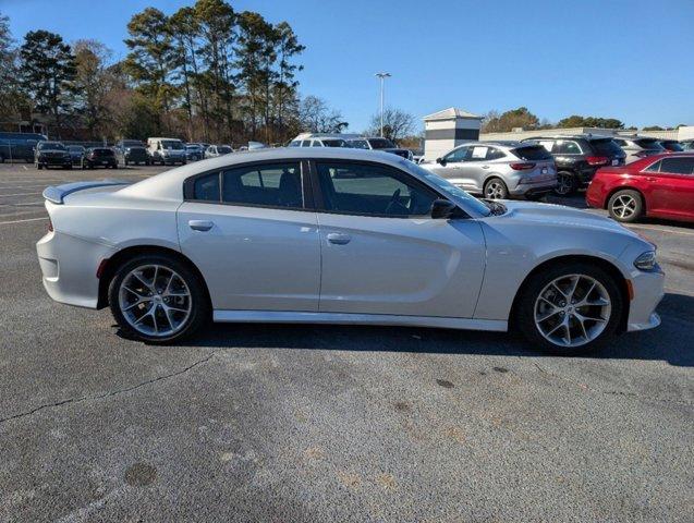
[[[0,165],[1,521],[694,520],[694,228],[633,226],[662,325],[598,356],[281,325],[149,346],[53,303],[34,244],[46,185],[159,170]]]

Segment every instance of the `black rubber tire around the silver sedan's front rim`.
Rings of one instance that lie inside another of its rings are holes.
[[[577,346],[564,346],[550,342],[543,336],[535,323],[535,304],[540,293],[557,278],[569,275],[582,275],[597,280],[607,291],[611,307],[604,330],[594,340]],[[531,276],[519,292],[514,304],[514,317],[511,319],[514,327],[523,333],[533,348],[552,354],[573,356],[595,352],[612,340],[619,331],[623,311],[622,292],[619,289],[619,283],[610,273],[584,262],[570,262],[550,266]]]

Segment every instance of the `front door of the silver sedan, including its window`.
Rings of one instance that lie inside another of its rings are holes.
[[[431,219],[440,197],[412,175],[317,160],[320,312],[470,318],[485,243],[470,219]]]

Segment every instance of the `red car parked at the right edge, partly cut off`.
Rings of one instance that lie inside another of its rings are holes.
[[[654,155],[599,169],[585,196],[618,221],[644,216],[694,221],[694,154]]]

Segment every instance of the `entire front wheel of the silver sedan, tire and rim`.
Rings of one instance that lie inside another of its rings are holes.
[[[619,328],[623,299],[600,267],[569,263],[533,275],[521,291],[515,321],[538,349],[562,355],[599,349]]]

